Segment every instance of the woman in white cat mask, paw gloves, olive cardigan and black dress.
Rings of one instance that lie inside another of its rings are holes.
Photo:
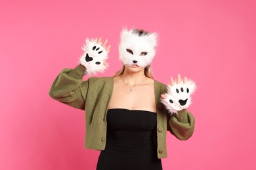
[[[85,148],[101,150],[98,170],[162,169],[167,130],[181,140],[194,131],[194,117],[186,110],[194,83],[186,78],[182,81],[178,75],[177,83],[171,78],[167,88],[154,80],[150,63],[155,56],[156,33],[140,29],[121,32],[121,71],[114,77],[83,81],[85,73],[106,69],[110,50],[106,42],[87,40],[80,64],[63,69],[49,95],[85,110]]]

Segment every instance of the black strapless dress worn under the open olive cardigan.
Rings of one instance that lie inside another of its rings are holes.
[[[154,144],[156,113],[146,110],[109,109],[106,148],[97,170],[161,170]]]

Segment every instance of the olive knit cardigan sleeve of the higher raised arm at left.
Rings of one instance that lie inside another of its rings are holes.
[[[49,95],[56,101],[85,110],[85,97],[89,84],[89,80],[83,81],[85,72],[85,67],[80,64],[74,69],[62,69],[53,81]]]

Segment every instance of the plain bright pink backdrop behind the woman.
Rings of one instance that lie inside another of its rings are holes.
[[[181,73],[198,84],[194,135],[167,134],[163,169],[256,169],[255,16],[255,1],[2,0],[0,169],[95,169],[83,111],[48,92],[87,37],[109,39],[110,67],[98,76],[112,76],[123,26],[159,33],[157,80]]]

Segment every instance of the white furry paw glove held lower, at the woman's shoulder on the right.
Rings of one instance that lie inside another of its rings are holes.
[[[161,103],[165,105],[165,108],[171,113],[178,113],[179,110],[187,109],[191,104],[190,95],[196,90],[196,84],[192,80],[188,80],[185,84],[173,84],[173,86],[167,86],[167,97],[161,99]]]

